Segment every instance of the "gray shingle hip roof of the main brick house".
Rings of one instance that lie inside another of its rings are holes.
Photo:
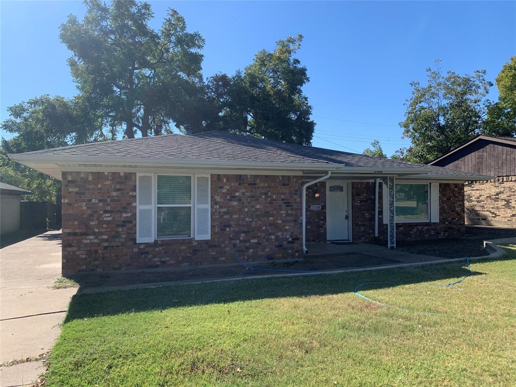
[[[129,140],[105,141],[81,144],[71,147],[44,149],[23,154],[34,155],[60,160],[72,160],[86,157],[94,158],[99,163],[102,159],[113,158],[143,160],[185,160],[198,162],[243,162],[256,163],[257,166],[267,166],[268,163],[310,164],[311,166],[344,166],[346,168],[368,168],[372,170],[404,170],[414,171],[421,175],[422,170],[428,171],[428,176],[451,178],[456,176],[474,176],[469,172],[453,169],[412,164],[388,158],[366,156],[362,154],[334,151],[325,148],[301,146],[280,141],[266,140],[252,136],[243,136],[222,131],[211,131],[196,135],[183,136],[178,134],[135,138]],[[16,159],[16,155],[12,155]],[[31,157],[30,157],[31,158]],[[477,175],[481,176],[481,175]]]

